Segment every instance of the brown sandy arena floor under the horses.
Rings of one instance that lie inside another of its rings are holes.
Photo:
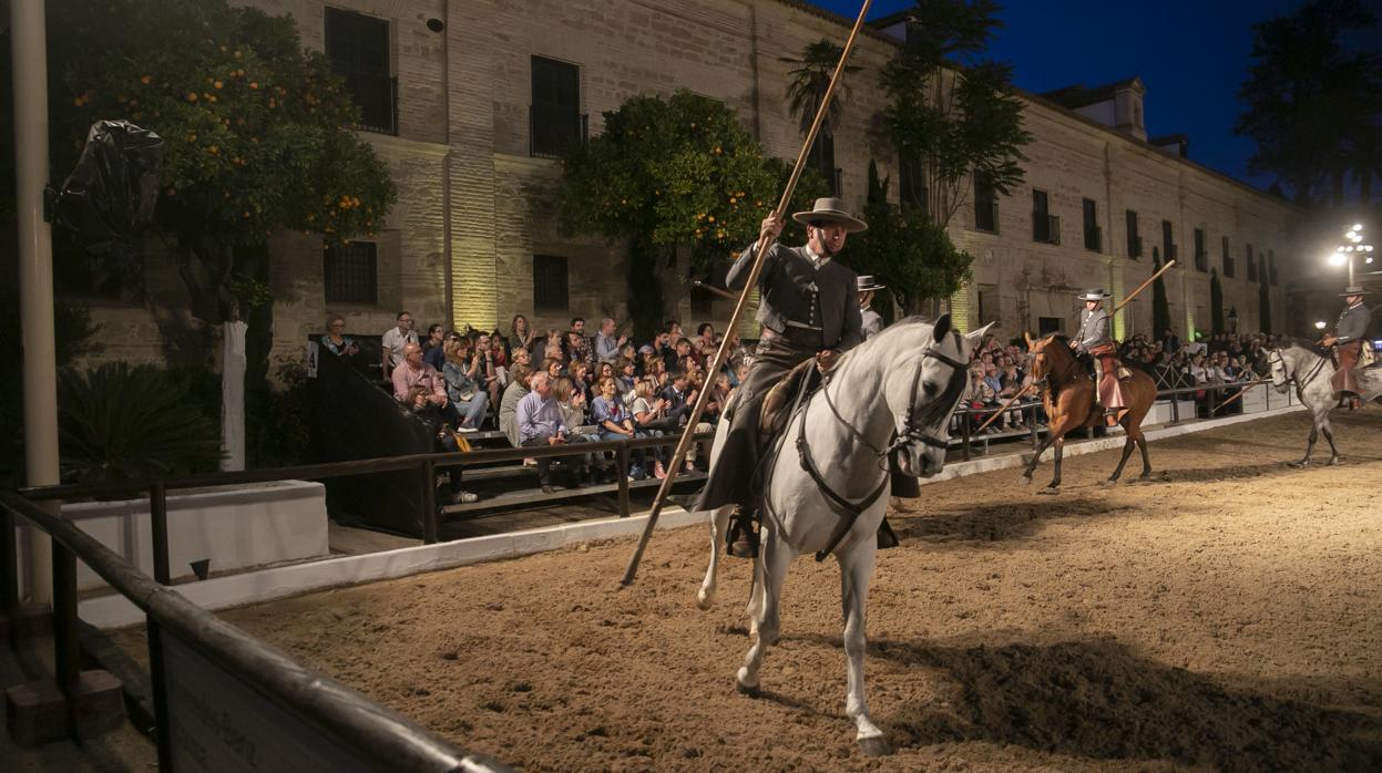
[[[926,486],[869,594],[880,761],[844,716],[835,563],[793,566],[750,700],[749,563],[697,610],[699,527],[654,536],[627,589],[621,540],[227,617],[531,770],[1376,770],[1382,411],[1335,415],[1335,468],[1284,465],[1298,413],[1153,443],[1146,485],[1099,485],[1107,451],[1057,497],[1017,471]]]

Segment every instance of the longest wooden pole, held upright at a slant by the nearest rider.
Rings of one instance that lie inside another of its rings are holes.
[[[792,177],[786,181],[786,188],[782,190],[782,199],[778,202],[773,215],[778,219],[786,213],[788,206],[792,203],[792,193],[796,192],[796,184],[802,178],[802,171],[806,168],[806,156],[811,152],[811,145],[815,144],[815,135],[821,131],[821,123],[825,120],[826,110],[831,108],[831,99],[835,97],[835,86],[840,81],[840,75],[844,72],[844,63],[850,59],[850,51],[854,48],[854,39],[858,37],[860,29],[864,28],[864,17],[868,15],[868,8],[873,0],[864,0],[864,7],[860,8],[860,15],[854,19],[854,29],[850,30],[849,40],[844,41],[844,50],[840,52],[840,61],[835,65],[835,73],[831,76],[831,84],[825,88],[825,95],[821,97],[821,106],[815,110],[815,120],[811,121],[810,131],[806,133],[806,142],[802,145],[802,150],[796,155],[796,166],[792,167]],[[730,341],[734,338],[730,333],[734,331],[735,326],[739,323],[739,317],[744,315],[744,309],[749,305],[749,293],[752,293],[759,286],[759,273],[763,272],[763,260],[768,254],[768,248],[773,246],[773,239],[767,235],[759,235],[759,242],[755,246],[753,268],[749,269],[749,276],[744,282],[744,290],[739,293],[739,301],[734,305],[734,313],[730,316],[730,324],[726,329],[724,340],[720,341],[720,348],[714,352],[714,360],[706,373],[713,377],[720,373],[724,366],[724,360],[728,359]],[[701,421],[701,413],[705,410],[706,398],[710,395],[709,384],[701,388],[699,395],[695,400],[695,407],[691,409],[691,415],[687,417],[685,429],[681,432],[681,440],[677,443],[677,451],[672,456],[672,467],[668,469],[668,476],[662,479],[662,486],[658,487],[658,496],[652,500],[652,509],[648,511],[648,522],[643,526],[643,534],[638,537],[638,547],[634,548],[633,556],[629,559],[627,569],[623,570],[623,585],[633,583],[634,577],[638,574],[638,562],[643,560],[643,551],[648,547],[648,538],[652,536],[652,530],[658,525],[658,516],[662,515],[662,505],[668,500],[668,494],[672,493],[672,482],[676,480],[677,473],[681,471],[681,465],[685,461],[687,451],[691,449],[691,438],[695,435],[695,427]]]

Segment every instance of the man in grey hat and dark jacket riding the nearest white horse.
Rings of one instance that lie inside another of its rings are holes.
[[[760,239],[773,240],[759,275],[757,320],[763,334],[749,375],[738,389],[730,435],[695,507],[705,511],[728,504],[739,507],[730,526],[730,554],[739,558],[757,555],[757,534],[752,527],[757,507],[753,476],[759,467],[763,398],[796,366],[814,358],[815,367],[828,371],[840,353],[864,341],[857,276],[833,258],[850,233],[868,225],[851,215],[840,199],[817,199],[810,211],[795,213],[792,219],[806,225],[807,242],[802,247],[777,243],[781,218],[768,215],[763,221]],[[755,247],[730,266],[726,286],[731,290],[744,287]]]

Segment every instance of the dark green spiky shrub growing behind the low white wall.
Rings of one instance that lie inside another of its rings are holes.
[[[176,478],[216,469],[221,433],[153,366],[106,363],[58,378],[64,482]]]

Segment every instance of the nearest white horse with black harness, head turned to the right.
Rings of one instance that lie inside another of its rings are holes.
[[[869,756],[891,752],[864,700],[864,599],[887,511],[890,440],[897,438],[893,444],[901,450],[898,467],[905,475],[930,478],[945,467],[949,418],[967,385],[970,355],[987,330],[960,335],[951,330],[948,315],[934,326],[908,319],[883,330],[840,359],[825,386],[791,417],[766,461],[761,548],[748,607],[755,640],[739,668],[738,689],[757,694],[763,654],[781,632],[778,603],[792,560],[810,552],[820,560],[833,552],[849,656],[844,710]],[[712,456],[724,443],[727,424],[720,424]],[[731,509],[720,508],[710,519],[701,609],[714,600]]]

